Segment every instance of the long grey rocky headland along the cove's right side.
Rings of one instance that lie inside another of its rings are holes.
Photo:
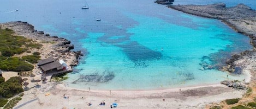
[[[256,11],[247,5],[238,4],[235,7],[227,8],[224,3],[216,3],[209,5],[168,5],[168,7],[187,14],[221,20],[238,33],[251,39],[250,43],[254,47],[253,50],[246,50],[241,54],[233,55],[231,59],[227,60],[227,66],[224,66],[223,70],[232,73],[237,67],[240,67],[236,65],[236,61],[243,57],[256,58]]]

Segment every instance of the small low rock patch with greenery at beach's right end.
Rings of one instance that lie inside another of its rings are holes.
[[[228,87],[235,88],[235,89],[247,89],[246,84],[243,84],[242,82],[237,80],[225,80],[225,81],[221,81],[221,84],[226,85]]]

